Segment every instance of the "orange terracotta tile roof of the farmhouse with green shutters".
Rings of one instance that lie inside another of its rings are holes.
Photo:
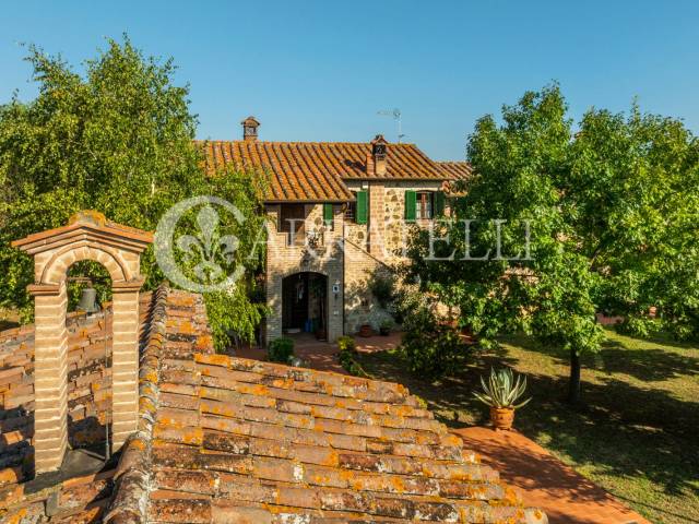
[[[414,144],[388,144],[387,171],[367,172],[370,143],[202,141],[206,168],[227,165],[269,174],[268,202],[346,202],[353,195],[344,180],[449,180],[458,169],[445,169]],[[460,164],[460,163],[453,163]]]

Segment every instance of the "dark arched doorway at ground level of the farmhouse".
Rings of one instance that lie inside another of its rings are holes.
[[[282,281],[282,331],[328,338],[328,276],[305,271]]]

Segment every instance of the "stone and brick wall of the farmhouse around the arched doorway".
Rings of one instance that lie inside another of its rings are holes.
[[[403,260],[408,229],[405,223],[405,192],[439,191],[442,181],[347,181],[351,191],[368,193],[368,221],[357,224],[345,219],[343,204],[333,204],[333,227],[323,223],[322,203],[305,204],[305,234],[320,234],[322,245],[289,246],[288,234],[280,231],[282,204],[266,206],[269,216],[266,299],[271,308],[265,333],[266,341],[283,336],[283,279],[301,272],[315,272],[328,277],[328,338],[335,341],[343,334],[354,335],[363,324],[378,330],[391,315],[372,296],[371,278],[391,270]],[[425,226],[426,221],[415,223]],[[332,293],[333,284],[340,291]]]

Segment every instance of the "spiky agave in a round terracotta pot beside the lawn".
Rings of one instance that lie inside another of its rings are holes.
[[[474,396],[490,406],[490,422],[496,430],[508,431],[512,429],[514,409],[524,406],[532,398],[524,402],[517,401],[526,390],[526,378],[514,376],[510,368],[494,370],[490,368],[490,378],[486,384],[481,377],[483,392],[474,392]]]

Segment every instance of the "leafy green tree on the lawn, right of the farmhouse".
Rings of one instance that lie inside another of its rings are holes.
[[[476,123],[466,194],[431,241],[415,230],[406,276],[457,307],[485,346],[523,331],[566,347],[578,402],[580,355],[604,336],[596,312],[639,329],[654,306],[665,327],[697,333],[698,151],[682,122],[637,107],[628,118],[591,109],[573,135],[557,85],[526,93],[501,124]]]

